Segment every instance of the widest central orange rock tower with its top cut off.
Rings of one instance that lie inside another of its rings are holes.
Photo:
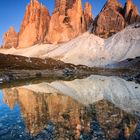
[[[61,43],[86,31],[81,0],[55,0],[45,42]]]

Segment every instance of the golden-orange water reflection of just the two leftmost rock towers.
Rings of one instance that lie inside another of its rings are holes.
[[[36,96],[36,93],[30,90],[15,88],[3,90],[3,96],[4,102],[8,103],[10,108],[16,102],[19,104],[25,126],[30,133],[38,133],[45,127],[46,119],[49,117],[45,95]]]

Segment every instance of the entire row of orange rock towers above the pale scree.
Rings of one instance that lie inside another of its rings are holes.
[[[140,22],[136,6],[127,0],[124,8],[117,0],[107,0],[93,21],[91,5],[81,0],[55,0],[53,14],[38,2],[30,0],[17,34],[10,28],[3,37],[3,48],[23,48],[39,43],[57,44],[69,41],[87,31],[93,24],[93,33],[108,38],[127,25]]]

